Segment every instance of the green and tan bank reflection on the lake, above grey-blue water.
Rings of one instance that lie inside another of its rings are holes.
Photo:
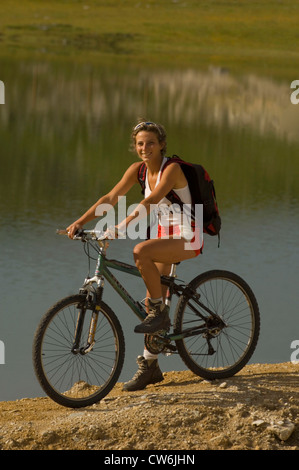
[[[139,116],[165,124],[169,154],[208,169],[220,207],[298,201],[299,110],[288,84],[215,69],[6,65],[3,218],[77,217],[136,159],[129,136]],[[128,202],[139,197],[136,188]]]

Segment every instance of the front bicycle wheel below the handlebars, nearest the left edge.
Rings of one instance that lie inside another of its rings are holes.
[[[120,375],[125,353],[118,318],[104,302],[97,310],[95,343],[87,348],[92,307],[84,295],[67,297],[42,318],[33,342],[33,364],[46,394],[60,405],[81,408],[104,398]],[[74,349],[78,316],[84,314]]]

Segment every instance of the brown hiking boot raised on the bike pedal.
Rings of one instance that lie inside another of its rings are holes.
[[[162,302],[152,303],[149,299],[148,315],[142,323],[135,326],[135,333],[157,333],[170,327],[169,307]]]

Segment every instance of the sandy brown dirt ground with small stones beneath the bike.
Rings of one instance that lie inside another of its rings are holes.
[[[2,450],[299,450],[299,365],[254,364],[208,382],[190,371],[101,402],[0,402]]]

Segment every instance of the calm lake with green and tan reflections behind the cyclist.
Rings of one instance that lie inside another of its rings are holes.
[[[178,275],[191,280],[223,268],[244,277],[262,322],[251,362],[289,361],[291,343],[299,339],[299,106],[290,102],[290,84],[217,68],[170,72],[11,60],[4,71],[0,400],[43,395],[31,360],[35,328],[53,303],[78,291],[88,272],[82,244],[55,231],[78,218],[136,160],[130,132],[140,116],[164,124],[168,155],[201,163],[216,186],[220,248],[206,236],[203,254],[181,264]],[[136,187],[128,203],[140,197]],[[115,241],[109,255],[133,262],[133,245]],[[145,290],[141,280],[120,279],[132,293]],[[137,319],[109,286],[104,300],[123,325],[127,350],[120,380],[128,380],[143,338],[133,333]],[[185,368],[176,356],[162,356],[161,366]]]

